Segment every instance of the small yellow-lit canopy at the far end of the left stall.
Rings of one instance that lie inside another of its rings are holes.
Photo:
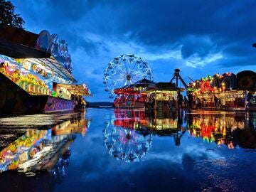
[[[85,83],[82,83],[81,85],[71,85],[71,84],[58,84],[58,87],[63,87],[71,94],[78,94],[78,95],[91,95],[90,90],[88,89],[87,85]]]

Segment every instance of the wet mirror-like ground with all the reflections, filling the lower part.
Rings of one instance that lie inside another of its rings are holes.
[[[0,191],[255,191],[256,113],[0,119]]]

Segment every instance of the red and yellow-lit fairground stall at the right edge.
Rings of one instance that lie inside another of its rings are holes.
[[[224,110],[254,110],[256,107],[256,78],[252,71],[237,75],[208,75],[191,82],[188,93],[193,95],[194,108],[218,108]]]

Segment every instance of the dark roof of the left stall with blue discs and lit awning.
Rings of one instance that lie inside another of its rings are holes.
[[[0,54],[14,59],[26,58],[51,70],[65,82],[77,82],[71,74],[73,67],[68,44],[46,30],[36,34],[0,24]]]

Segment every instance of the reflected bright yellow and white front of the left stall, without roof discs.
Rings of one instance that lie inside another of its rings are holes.
[[[72,138],[52,137],[51,129],[41,131],[29,129],[26,134],[0,152],[0,172],[18,168],[28,171],[28,167],[32,165],[39,167],[38,162],[43,166],[47,164],[46,159],[52,159],[55,152]]]

